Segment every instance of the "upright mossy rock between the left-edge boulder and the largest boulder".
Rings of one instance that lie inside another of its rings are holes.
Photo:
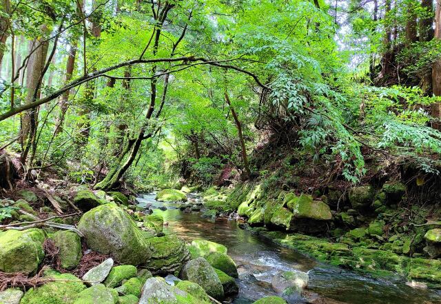
[[[78,266],[83,256],[79,235],[72,231],[58,231],[50,238],[59,247],[61,267],[71,270]]]

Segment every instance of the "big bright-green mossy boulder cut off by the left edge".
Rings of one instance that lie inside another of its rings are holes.
[[[40,229],[0,232],[0,271],[35,272],[44,259],[45,233]]]

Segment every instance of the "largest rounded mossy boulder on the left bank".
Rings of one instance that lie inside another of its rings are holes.
[[[150,258],[150,244],[132,218],[114,203],[95,207],[79,221],[88,247],[119,263],[139,265]]]

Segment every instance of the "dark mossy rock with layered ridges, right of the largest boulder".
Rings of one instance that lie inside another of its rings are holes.
[[[152,255],[147,262],[147,269],[154,274],[170,274],[180,270],[190,259],[187,246],[176,236],[161,236],[150,239]]]

